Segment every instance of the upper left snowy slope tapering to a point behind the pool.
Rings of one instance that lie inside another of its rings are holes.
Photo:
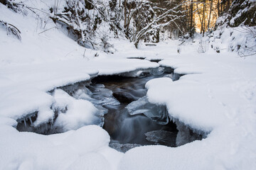
[[[1,115],[17,119],[41,108],[50,108],[54,99],[46,91],[89,80],[96,74],[117,74],[159,66],[119,56],[106,57],[101,52],[97,52],[99,57],[93,57],[96,51],[80,47],[61,32],[61,28],[41,33],[48,27],[58,28],[52,21],[48,21],[43,29],[31,13],[22,16],[2,4],[0,9],[2,19],[21,30],[22,38],[16,40],[0,29],[3,37],[0,40]]]

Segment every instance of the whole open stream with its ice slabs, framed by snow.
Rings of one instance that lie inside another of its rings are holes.
[[[166,106],[149,103],[145,84],[150,79],[159,77],[169,77],[176,81],[180,76],[174,74],[171,68],[159,67],[98,76],[91,82],[80,82],[60,89],[73,98],[90,101],[98,109],[99,118],[95,124],[109,133],[110,147],[119,152],[127,152],[143,145],[177,147],[193,140],[201,140],[202,135],[178,121],[174,123],[170,120]],[[17,130],[43,135],[62,132],[61,129],[53,128],[58,111],[55,111],[53,122],[39,128],[33,128],[36,118],[36,113],[33,113],[29,118],[17,120]]]

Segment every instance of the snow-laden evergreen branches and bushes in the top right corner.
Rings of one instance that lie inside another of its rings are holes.
[[[235,0],[230,9],[216,22],[220,35],[230,28],[230,50],[242,57],[256,54],[256,1]]]

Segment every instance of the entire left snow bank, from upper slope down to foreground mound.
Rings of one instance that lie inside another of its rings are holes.
[[[53,1],[26,1],[36,8],[48,8],[49,3]],[[110,137],[105,130],[90,125],[98,119],[95,106],[55,89],[90,81],[97,74],[159,64],[85,50],[47,15],[37,18],[28,9],[23,12],[0,4],[1,20],[21,31],[20,41],[0,27],[0,169],[117,169],[122,154],[108,147]],[[56,125],[70,131],[45,136],[16,130],[16,120],[33,113],[38,113],[35,126],[52,121],[55,106],[69,108]]]

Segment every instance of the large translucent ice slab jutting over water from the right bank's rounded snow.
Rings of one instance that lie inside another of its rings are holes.
[[[144,114],[151,120],[156,121],[161,125],[169,123],[168,112],[165,106],[149,103],[147,96],[139,98],[137,101],[133,101],[127,105],[127,110],[130,115]]]

